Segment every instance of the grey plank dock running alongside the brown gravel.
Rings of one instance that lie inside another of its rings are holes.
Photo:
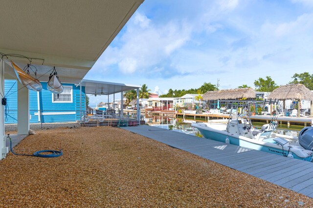
[[[147,125],[123,127],[123,129],[313,198],[313,163],[311,162]]]

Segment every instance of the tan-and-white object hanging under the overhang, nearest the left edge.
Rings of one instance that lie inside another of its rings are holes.
[[[11,64],[13,66],[14,72],[16,76],[18,77],[19,81],[24,85],[26,88],[32,91],[41,91],[43,89],[43,86],[41,85],[40,81],[32,76],[29,75],[29,69],[31,65],[27,64],[27,68],[25,71],[23,71],[18,65],[16,65],[13,61],[11,61]],[[31,69],[32,70],[32,69]],[[27,72],[26,72],[27,71]],[[37,73],[35,73],[35,76],[37,76]]]

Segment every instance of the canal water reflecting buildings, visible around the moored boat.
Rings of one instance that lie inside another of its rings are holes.
[[[191,126],[192,123],[199,120],[185,120],[183,118],[145,115],[145,121],[146,124],[150,126],[202,137],[198,129]],[[258,129],[260,129],[264,124],[266,123],[252,122],[253,127]],[[290,125],[290,127],[288,128],[287,124],[279,124],[275,132],[280,134],[297,136],[300,130],[303,128],[304,126],[298,125]]]

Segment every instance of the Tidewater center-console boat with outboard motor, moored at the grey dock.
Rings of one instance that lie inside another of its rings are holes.
[[[191,124],[208,139],[312,161],[313,127],[305,127],[296,137],[274,133],[276,125],[276,122],[271,122],[263,125],[261,130],[257,130],[253,128],[249,119],[238,116],[229,119],[227,124]]]

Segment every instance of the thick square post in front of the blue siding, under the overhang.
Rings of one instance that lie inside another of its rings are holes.
[[[29,91],[18,81],[18,134],[29,132]]]

